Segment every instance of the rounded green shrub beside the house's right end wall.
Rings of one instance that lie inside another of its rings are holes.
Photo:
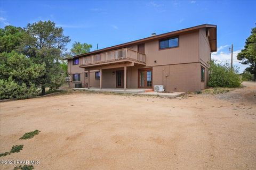
[[[210,77],[208,86],[210,87],[239,87],[241,78],[237,68],[230,68],[228,64],[221,65],[215,61],[211,61]]]

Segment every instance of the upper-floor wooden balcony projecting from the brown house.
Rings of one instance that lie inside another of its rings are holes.
[[[129,48],[122,48],[106,53],[82,57],[79,61],[79,67],[85,68],[125,62],[146,65],[146,55]]]

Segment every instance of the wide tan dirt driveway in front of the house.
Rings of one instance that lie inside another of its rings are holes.
[[[256,85],[244,84],[177,99],[77,93],[1,103],[0,152],[24,146],[0,160],[39,160],[35,169],[256,169]]]

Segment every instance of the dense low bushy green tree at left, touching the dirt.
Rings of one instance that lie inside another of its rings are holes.
[[[35,64],[25,55],[12,51],[0,54],[0,98],[25,98],[38,94],[37,78],[45,64]]]

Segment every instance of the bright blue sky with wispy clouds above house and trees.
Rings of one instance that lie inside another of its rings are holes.
[[[54,21],[74,41],[93,49],[110,47],[195,25],[218,27],[218,52],[213,58],[230,62],[228,48],[234,44],[234,64],[245,39],[255,27],[256,1],[0,1],[1,28],[25,27],[39,20]],[[216,55],[217,54],[217,55]]]

